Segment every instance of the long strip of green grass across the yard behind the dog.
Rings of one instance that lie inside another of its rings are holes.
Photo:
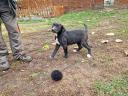
[[[37,20],[19,20],[19,26],[23,33],[46,31],[51,28],[53,22],[62,23],[67,29],[84,28],[83,23],[87,24],[89,29],[105,19],[116,17],[118,23],[125,28],[117,30],[119,34],[128,34],[128,11],[127,10],[86,10],[80,12],[71,12],[55,18],[42,18]],[[3,28],[5,31],[5,28]]]

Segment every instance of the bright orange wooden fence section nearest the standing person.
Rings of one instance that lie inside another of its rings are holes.
[[[20,0],[18,5],[19,17],[38,15],[45,18],[64,13],[63,6],[53,6],[51,0]]]

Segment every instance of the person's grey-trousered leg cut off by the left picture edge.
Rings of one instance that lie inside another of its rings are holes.
[[[1,21],[0,21],[0,71],[5,71],[10,68],[10,65],[7,60],[7,47],[2,37],[2,30],[1,30]]]

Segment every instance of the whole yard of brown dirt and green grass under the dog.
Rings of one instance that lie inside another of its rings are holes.
[[[51,60],[55,34],[48,29],[53,22],[62,23],[67,30],[84,29],[83,23],[87,24],[94,59],[88,60],[84,49],[74,53],[73,45],[68,59],[63,58],[60,48]],[[10,52],[11,69],[0,72],[0,96],[128,96],[128,57],[124,54],[128,50],[127,9],[86,10],[50,19],[19,20],[19,26],[24,49],[33,61],[16,62]],[[4,36],[8,42],[5,32]],[[116,43],[116,39],[123,42]],[[103,44],[102,40],[109,42]],[[55,69],[62,70],[61,81],[51,80]]]

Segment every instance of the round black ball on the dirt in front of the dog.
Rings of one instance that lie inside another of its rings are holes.
[[[51,78],[52,80],[54,81],[59,81],[63,78],[63,74],[62,72],[60,72],[59,70],[54,70],[52,73],[51,73]]]

